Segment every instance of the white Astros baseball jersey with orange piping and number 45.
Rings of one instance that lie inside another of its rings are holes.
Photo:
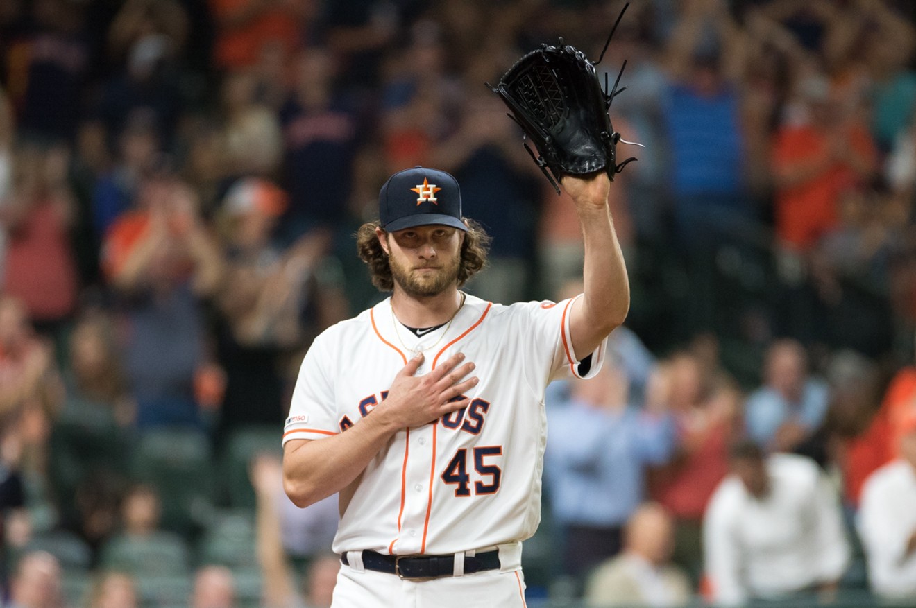
[[[469,406],[398,431],[341,492],[335,552],[442,555],[534,534],[547,439],[544,389],[552,379],[594,375],[605,351],[602,342],[583,376],[570,338],[572,302],[503,306],[467,296],[451,325],[418,338],[395,320],[386,299],[315,339],[284,443],[322,440],[359,424],[387,396],[412,357],[408,349],[430,349],[418,375],[461,352],[479,378]]]

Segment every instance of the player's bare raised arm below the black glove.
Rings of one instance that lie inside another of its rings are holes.
[[[570,335],[579,359],[594,352],[629,310],[627,266],[607,204],[610,185],[604,172],[562,179],[563,189],[573,197],[585,244],[583,297],[570,311]]]

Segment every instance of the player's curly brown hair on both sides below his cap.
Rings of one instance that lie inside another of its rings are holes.
[[[486,253],[490,248],[490,235],[484,227],[474,220],[462,218],[468,230],[464,233],[461,246],[461,263],[458,266],[458,287],[462,287],[469,278],[486,266]],[[388,265],[388,256],[382,245],[378,242],[376,228],[380,223],[364,223],[356,231],[356,251],[359,258],[369,266],[372,284],[380,291],[392,291],[395,288],[394,278],[391,277],[391,266]]]

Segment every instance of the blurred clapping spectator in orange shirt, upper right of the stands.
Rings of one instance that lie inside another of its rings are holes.
[[[808,120],[776,134],[775,220],[780,239],[806,251],[837,222],[840,194],[875,173],[878,152],[866,125],[841,105],[825,77],[807,77],[799,94]]]

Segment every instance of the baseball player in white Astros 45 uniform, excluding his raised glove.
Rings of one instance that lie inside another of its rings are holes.
[[[629,307],[610,181],[562,183],[582,223],[584,292],[510,306],[460,290],[487,237],[451,175],[411,168],[382,187],[357,246],[392,295],[315,339],[283,435],[290,499],[340,493],[334,608],[525,605],[544,389],[594,375]]]

